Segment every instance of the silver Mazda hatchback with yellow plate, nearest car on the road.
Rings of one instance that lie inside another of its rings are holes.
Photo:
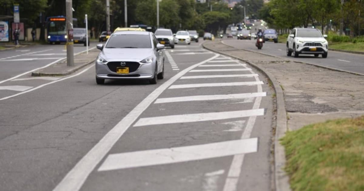
[[[152,32],[114,32],[96,59],[96,83],[105,79],[148,79],[156,84],[164,76],[163,44]]]

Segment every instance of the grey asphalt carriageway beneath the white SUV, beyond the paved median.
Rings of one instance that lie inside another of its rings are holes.
[[[255,40],[223,40],[223,43],[236,47],[244,48],[251,51],[262,52],[268,55],[289,58],[295,61],[317,64],[325,67],[340,69],[349,72],[361,73],[364,75],[363,59],[364,55],[329,51],[327,58],[314,57],[313,55],[300,55],[298,58],[286,55],[286,44],[266,42],[263,48],[258,50],[255,46]],[[330,47],[330,45],[329,45]]]

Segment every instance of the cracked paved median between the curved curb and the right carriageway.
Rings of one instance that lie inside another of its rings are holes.
[[[298,130],[305,125],[325,122],[329,119],[364,115],[363,76],[248,52],[227,46],[218,40],[206,42],[203,46],[212,51],[244,60],[256,65],[264,73],[269,73],[276,92],[279,92],[279,89],[283,91],[286,111],[284,121],[286,121],[288,131]],[[274,81],[277,83],[274,84]],[[277,93],[278,112],[279,96]],[[279,125],[282,116],[278,115],[277,133],[284,126],[284,124]],[[280,137],[276,136],[276,145],[279,144],[277,138]],[[279,150],[275,148],[275,155],[277,155],[277,151]],[[280,174],[281,172],[277,174],[277,170],[280,171],[284,166],[285,158],[277,159],[277,156],[275,158],[276,186],[277,184],[284,185],[287,181],[282,182],[285,177]],[[277,187],[277,190],[284,190],[278,188],[280,187]]]

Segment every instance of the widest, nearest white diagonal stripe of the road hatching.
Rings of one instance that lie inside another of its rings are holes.
[[[108,155],[98,171],[172,164],[257,152],[258,138]],[[148,159],[148,160],[146,160]]]

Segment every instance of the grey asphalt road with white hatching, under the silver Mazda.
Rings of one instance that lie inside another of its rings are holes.
[[[1,190],[271,190],[272,90],[200,43],[166,49],[155,85],[90,65],[0,100]]]

